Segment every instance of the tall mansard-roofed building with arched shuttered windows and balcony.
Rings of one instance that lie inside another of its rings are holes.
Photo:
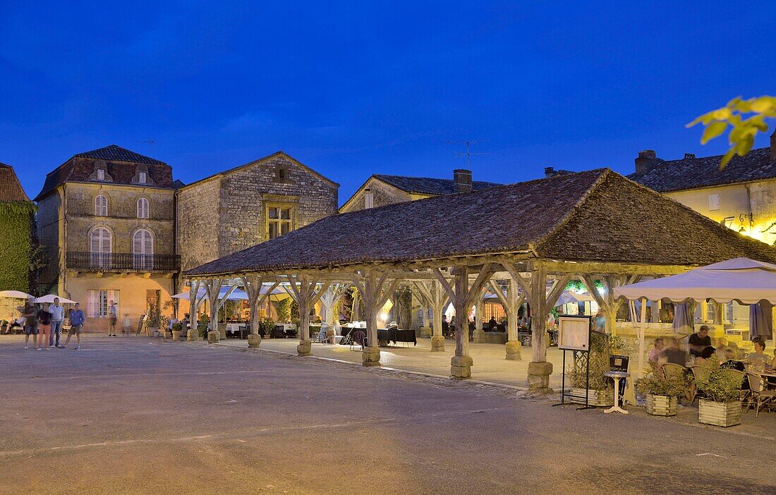
[[[110,300],[133,326],[170,301],[179,261],[168,164],[115,144],[74,154],[49,172],[35,200],[50,256],[41,283],[81,302],[87,331],[106,331]]]

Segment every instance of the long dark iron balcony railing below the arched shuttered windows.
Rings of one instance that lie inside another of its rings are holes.
[[[181,257],[176,254],[68,252],[67,268],[89,272],[177,272]]]

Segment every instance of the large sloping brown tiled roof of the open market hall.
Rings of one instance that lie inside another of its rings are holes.
[[[773,247],[598,169],[329,216],[186,275],[525,251],[650,265],[707,265],[742,256],[776,262]]]

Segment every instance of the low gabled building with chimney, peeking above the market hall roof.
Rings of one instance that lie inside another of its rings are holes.
[[[394,202],[414,201],[456,192],[478,191],[499,185],[494,182],[473,181],[472,171],[458,169],[453,178],[408,177],[406,175],[375,174],[340,208],[340,213],[385,206]]]

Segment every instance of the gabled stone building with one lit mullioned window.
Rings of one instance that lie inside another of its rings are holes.
[[[337,213],[338,189],[336,182],[282,151],[180,187],[182,269]]]

